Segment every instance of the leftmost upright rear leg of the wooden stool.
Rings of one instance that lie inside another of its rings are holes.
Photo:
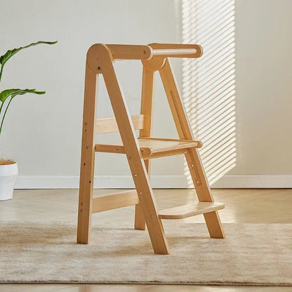
[[[77,242],[79,244],[88,244],[91,234],[97,80],[98,75],[89,69],[86,61],[77,227]]]

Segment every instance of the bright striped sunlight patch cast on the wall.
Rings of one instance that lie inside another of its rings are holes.
[[[211,185],[236,165],[234,2],[183,0],[183,42],[204,51],[183,60],[183,102]]]

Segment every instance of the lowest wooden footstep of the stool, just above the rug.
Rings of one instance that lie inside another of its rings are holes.
[[[196,202],[188,205],[168,208],[158,212],[160,219],[183,219],[194,215],[210,213],[224,208],[223,203]]]

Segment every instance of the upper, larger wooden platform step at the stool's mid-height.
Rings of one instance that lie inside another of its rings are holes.
[[[187,148],[199,148],[201,141],[176,140],[164,138],[138,138],[142,157],[144,159],[165,157],[175,154],[184,154]],[[122,153],[125,154],[122,142],[111,142],[107,144],[96,144],[95,152]]]

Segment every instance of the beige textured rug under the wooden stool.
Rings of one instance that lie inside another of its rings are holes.
[[[171,255],[155,255],[147,232],[93,226],[0,222],[0,282],[292,285],[292,224],[225,224],[210,239],[204,224],[166,223]]]

